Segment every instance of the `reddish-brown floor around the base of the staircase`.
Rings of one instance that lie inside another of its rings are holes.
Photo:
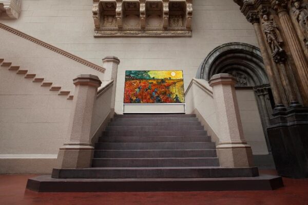
[[[27,179],[33,176],[36,175],[0,175],[0,204],[308,205],[308,179],[283,178],[285,187],[275,191],[36,193],[25,190]]]

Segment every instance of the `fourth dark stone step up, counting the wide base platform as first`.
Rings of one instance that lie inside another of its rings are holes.
[[[208,150],[95,150],[94,158],[217,157]]]

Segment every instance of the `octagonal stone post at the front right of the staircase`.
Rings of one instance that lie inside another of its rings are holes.
[[[236,79],[229,74],[213,75],[213,87],[219,125],[217,154],[221,167],[253,167],[252,149],[245,141],[235,93]]]

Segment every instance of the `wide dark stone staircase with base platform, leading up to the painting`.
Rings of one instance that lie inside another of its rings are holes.
[[[115,115],[95,144],[92,167],[28,179],[37,192],[273,190],[279,176],[222,168],[195,115]]]

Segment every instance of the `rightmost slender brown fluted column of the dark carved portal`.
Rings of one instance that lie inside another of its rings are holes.
[[[285,40],[288,44],[288,48],[290,49],[296,67],[292,67],[292,70],[295,74],[303,104],[304,106],[308,106],[308,63],[287,10],[283,7],[283,5],[281,5],[281,3],[278,2],[276,4],[275,9],[278,12],[283,33],[285,35]]]

